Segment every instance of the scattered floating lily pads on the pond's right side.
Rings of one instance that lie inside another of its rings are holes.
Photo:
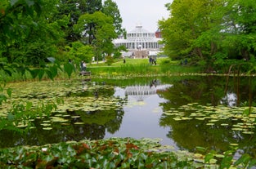
[[[250,113],[246,113],[248,109]],[[208,126],[220,123],[222,127],[229,127],[230,124],[227,121],[231,120],[231,129],[242,131],[244,134],[254,134],[256,120],[254,108],[198,105],[197,103],[182,105],[178,109],[169,109],[164,112],[164,115],[172,116],[175,121],[204,121]]]

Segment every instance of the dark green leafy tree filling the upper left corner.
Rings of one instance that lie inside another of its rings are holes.
[[[35,11],[38,10],[37,8],[29,8],[31,11],[28,11],[28,14],[18,10],[14,13],[7,13],[7,16],[2,16],[3,22],[6,23],[4,27],[9,27],[11,31],[3,28],[6,32],[3,31],[0,35],[3,39],[2,56],[6,57],[9,63],[17,62],[38,66],[44,64],[47,57],[56,55],[57,45],[63,41],[62,37],[64,36],[61,27],[65,27],[68,21],[67,18],[52,20],[52,16],[56,12],[56,2],[44,1],[40,3],[38,15]],[[19,9],[18,6],[25,6],[24,10],[26,11],[33,4],[33,2],[31,4],[16,3],[13,5],[12,10],[14,11]],[[9,7],[6,11],[11,9],[11,3],[9,3]],[[8,23],[8,20],[15,20],[15,22]],[[16,29],[13,30],[11,27]]]

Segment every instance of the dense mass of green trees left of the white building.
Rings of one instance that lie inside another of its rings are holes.
[[[42,67],[47,64],[47,57],[90,62],[92,56],[110,56],[115,51],[112,40],[124,33],[121,23],[119,9],[111,0],[104,4],[101,0],[3,0],[0,61]],[[78,49],[78,43],[85,47],[80,45]],[[99,51],[101,48],[104,49]]]

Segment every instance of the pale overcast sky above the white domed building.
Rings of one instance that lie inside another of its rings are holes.
[[[123,19],[123,27],[127,31],[135,28],[139,23],[143,29],[155,32],[158,29],[157,22],[162,18],[168,18],[164,4],[173,0],[113,0],[119,7]]]

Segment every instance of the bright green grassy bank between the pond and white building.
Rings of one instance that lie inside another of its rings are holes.
[[[111,65],[102,62],[88,64],[88,71],[96,76],[155,76],[200,73],[200,67],[181,65],[168,58],[159,58],[156,65],[150,64],[148,59],[126,59],[125,63],[123,60],[116,60]]]

